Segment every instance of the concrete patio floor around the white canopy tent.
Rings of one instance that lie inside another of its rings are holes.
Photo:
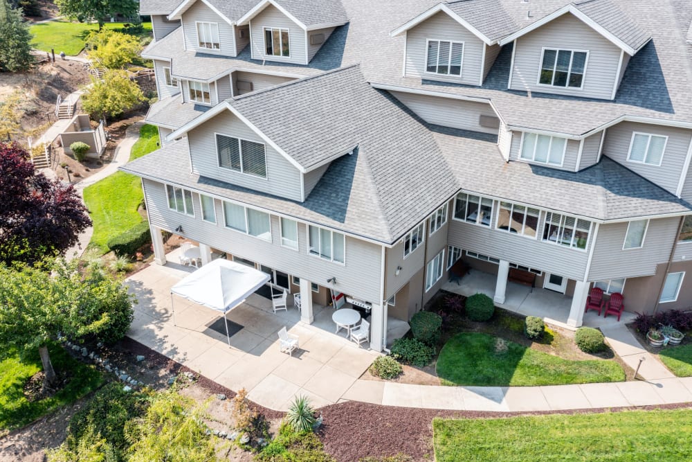
[[[128,336],[188,366],[215,382],[273,409],[286,410],[294,396],[310,398],[320,407],[338,402],[379,355],[358,348],[342,329],[335,333],[334,310],[313,303],[314,321],[304,323],[298,308],[273,312],[271,300],[251,294],[223,315],[175,296],[175,323],[170,288],[188,276],[194,266],[179,261],[176,251],[165,265],[152,264],[127,279],[135,294],[135,317]],[[399,327],[392,320],[392,334]],[[293,355],[281,353],[277,332],[286,326],[300,346]],[[389,329],[388,329],[389,331]]]

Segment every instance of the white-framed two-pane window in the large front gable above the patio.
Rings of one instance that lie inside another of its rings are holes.
[[[216,134],[219,167],[266,178],[264,144]]]

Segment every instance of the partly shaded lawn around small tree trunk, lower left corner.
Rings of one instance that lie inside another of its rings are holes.
[[[48,350],[55,371],[66,371],[71,377],[67,386],[51,398],[29,402],[24,396],[24,384],[42,370],[38,350],[24,359],[8,352],[0,358],[0,429],[14,429],[74,402],[103,383],[103,376],[93,366],[75,361],[62,346],[52,344]],[[1,433],[1,432],[0,432]]]

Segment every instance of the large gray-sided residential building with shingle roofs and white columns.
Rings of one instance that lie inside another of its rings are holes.
[[[686,0],[142,0],[161,231],[408,320],[462,259],[626,310],[692,305]]]

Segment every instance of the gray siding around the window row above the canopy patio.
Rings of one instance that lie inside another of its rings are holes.
[[[279,218],[271,217],[272,242],[248,236],[224,226],[221,201],[215,201],[217,224],[201,219],[199,196],[193,194],[194,217],[170,210],[165,187],[144,180],[149,222],[173,231],[182,225],[185,238],[203,242],[215,249],[242,256],[282,272],[325,285],[336,277],[338,290],[359,299],[377,303],[380,298],[381,247],[363,240],[346,238],[346,264],[331,263],[308,254],[307,226],[298,224],[298,251],[281,247]]]

